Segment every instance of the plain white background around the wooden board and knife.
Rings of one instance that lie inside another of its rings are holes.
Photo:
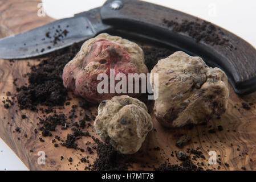
[[[42,0],[44,11],[55,19],[103,5],[105,0]],[[148,0],[180,10],[237,34],[256,47],[256,1],[254,0]],[[27,170],[0,139],[0,170]]]

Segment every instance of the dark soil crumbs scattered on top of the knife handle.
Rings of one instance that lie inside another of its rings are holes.
[[[188,20],[182,20],[181,23],[174,20],[163,19],[162,22],[172,28],[176,32],[187,33],[190,37],[196,40],[196,42],[204,41],[212,46],[224,45],[233,48],[229,43],[229,39],[225,38],[224,32],[214,26],[214,24],[206,21],[190,22]]]

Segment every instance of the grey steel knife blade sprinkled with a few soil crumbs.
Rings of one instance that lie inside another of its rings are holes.
[[[101,22],[100,8],[56,20],[21,34],[0,39],[0,58],[25,59],[90,39],[111,26]]]

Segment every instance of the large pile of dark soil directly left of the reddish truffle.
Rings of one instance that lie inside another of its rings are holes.
[[[48,59],[31,67],[29,86],[17,88],[19,109],[38,111],[37,105],[62,106],[66,101],[67,89],[63,86],[62,71],[64,66],[74,58],[81,44],[60,51],[52,52]]]

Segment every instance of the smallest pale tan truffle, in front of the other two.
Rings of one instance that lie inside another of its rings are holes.
[[[153,122],[143,102],[115,96],[100,103],[94,127],[100,138],[121,154],[134,154],[153,129]]]

